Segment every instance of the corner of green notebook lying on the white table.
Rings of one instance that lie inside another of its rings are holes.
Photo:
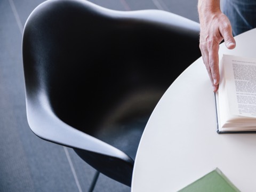
[[[179,190],[178,192],[241,192],[218,169],[207,173],[202,178]]]

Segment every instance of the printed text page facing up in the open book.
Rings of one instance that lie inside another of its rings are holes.
[[[256,59],[223,55],[232,115],[256,117]]]

